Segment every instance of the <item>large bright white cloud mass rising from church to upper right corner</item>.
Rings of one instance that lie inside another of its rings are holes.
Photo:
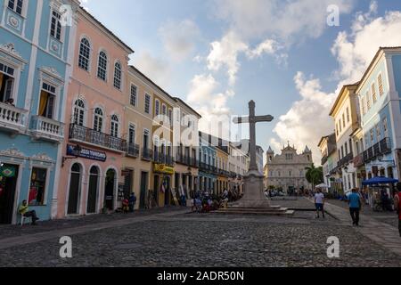
[[[351,32],[340,32],[332,45],[331,52],[340,64],[335,70],[340,81],[335,93],[323,92],[317,78],[307,80],[300,72],[294,77],[301,98],[274,127],[277,139],[271,143],[276,151],[288,140],[308,144],[314,151],[315,163],[320,164],[317,142],[334,131],[329,113],[342,85],[361,79],[380,46],[401,44],[401,12],[387,12],[383,17],[374,18],[376,11],[377,3],[372,2],[369,12],[357,12]]]

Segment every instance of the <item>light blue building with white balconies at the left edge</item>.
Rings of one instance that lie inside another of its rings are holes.
[[[0,0],[0,224],[52,217],[78,4]]]

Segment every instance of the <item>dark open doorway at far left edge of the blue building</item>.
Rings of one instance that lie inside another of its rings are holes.
[[[0,167],[0,224],[12,224],[18,166]]]

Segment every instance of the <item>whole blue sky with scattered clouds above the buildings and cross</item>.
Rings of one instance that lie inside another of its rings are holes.
[[[253,99],[258,114],[275,117],[258,126],[259,145],[307,144],[316,161],[340,86],[362,76],[379,46],[401,45],[393,0],[83,2],[133,47],[135,66],[205,120],[247,114]],[[338,27],[326,23],[330,4],[340,9]]]

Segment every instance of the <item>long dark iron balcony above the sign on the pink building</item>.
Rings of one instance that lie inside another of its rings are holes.
[[[127,141],[119,137],[103,134],[86,126],[70,125],[70,141],[83,142],[95,147],[101,147],[110,151],[127,152]]]

